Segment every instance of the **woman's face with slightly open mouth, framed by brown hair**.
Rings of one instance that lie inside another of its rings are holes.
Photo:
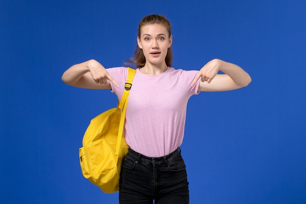
[[[164,25],[148,24],[141,27],[137,43],[144,53],[146,63],[164,66],[168,48],[172,44],[172,36],[169,37]]]

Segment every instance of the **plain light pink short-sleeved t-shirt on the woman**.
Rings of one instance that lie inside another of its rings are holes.
[[[109,68],[119,87],[111,88],[120,100],[128,69]],[[125,121],[124,136],[134,151],[148,157],[163,157],[178,148],[184,137],[187,102],[198,94],[199,81],[192,87],[198,71],[168,68],[158,75],[136,69]]]

